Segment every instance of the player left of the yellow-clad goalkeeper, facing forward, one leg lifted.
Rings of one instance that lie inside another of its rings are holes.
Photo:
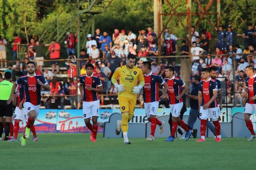
[[[99,77],[93,75],[94,66],[86,65],[86,74],[80,76],[79,90],[81,103],[83,104],[84,123],[90,129],[90,140],[96,142],[99,117],[99,92],[103,91],[102,82]],[[93,119],[93,125],[90,118]]]

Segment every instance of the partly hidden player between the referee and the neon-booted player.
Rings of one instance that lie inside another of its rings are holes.
[[[21,71],[17,72],[16,74],[16,79],[19,79],[21,76],[23,76],[23,73]],[[14,138],[9,140],[16,142],[17,141],[17,136],[20,128],[20,121],[25,120],[28,122],[29,114],[26,113],[25,109],[23,108],[23,98],[24,98],[24,87],[22,84],[18,85],[16,88],[16,96],[17,96],[17,105],[15,108],[15,115],[14,115]],[[33,133],[33,142],[36,142],[38,140],[38,137],[36,136],[35,133],[35,127],[32,125],[31,131]]]

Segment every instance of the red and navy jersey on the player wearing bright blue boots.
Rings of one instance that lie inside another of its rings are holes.
[[[174,104],[183,102],[182,97],[179,100],[175,98],[175,96],[179,96],[181,94],[182,92],[181,88],[185,86],[185,83],[183,82],[183,80],[180,79],[180,77],[173,76],[172,79],[167,78],[167,79],[164,79],[164,81],[168,85],[168,94],[169,94],[170,104],[174,105]]]

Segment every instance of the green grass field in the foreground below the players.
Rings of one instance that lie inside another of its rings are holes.
[[[20,135],[19,135],[20,136]],[[195,142],[157,138],[105,139],[98,134],[38,134],[39,140],[0,141],[0,169],[3,170],[255,170],[256,142],[245,138],[224,138],[223,142]]]

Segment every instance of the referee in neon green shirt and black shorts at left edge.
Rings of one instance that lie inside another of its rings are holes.
[[[3,134],[3,120],[4,120],[3,116],[5,116],[5,120],[6,120],[5,140],[8,141],[11,122],[12,122],[13,104],[10,103],[9,105],[7,105],[7,100],[11,95],[13,84],[12,82],[10,82],[10,79],[12,78],[12,74],[9,71],[4,74],[4,77],[5,77],[5,80],[0,82],[0,139],[2,139],[2,134]]]

